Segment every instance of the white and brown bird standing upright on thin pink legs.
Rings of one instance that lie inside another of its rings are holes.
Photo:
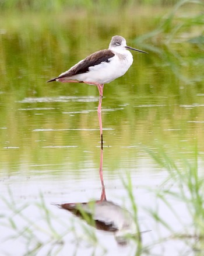
[[[58,77],[50,79],[48,82],[83,82],[85,84],[96,85],[99,89],[99,126],[101,144],[103,143],[103,130],[101,122],[101,103],[103,98],[103,87],[114,79],[121,77],[128,71],[133,62],[133,57],[130,51],[141,51],[129,46],[126,46],[126,40],[122,36],[113,36],[109,44],[109,48],[97,51],[79,61],[76,65],[63,72]]]

